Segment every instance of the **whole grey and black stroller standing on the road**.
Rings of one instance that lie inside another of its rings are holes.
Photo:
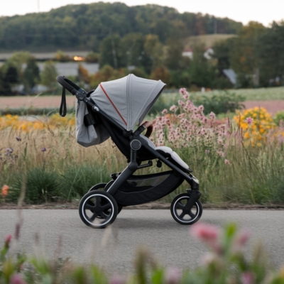
[[[187,192],[175,197],[170,212],[180,224],[194,224],[202,215],[199,182],[180,156],[166,146],[156,147],[149,139],[153,125],[143,119],[160,96],[165,84],[128,75],[119,80],[102,82],[87,93],[63,76],[60,115],[66,114],[65,89],[77,98],[77,143],[84,147],[103,143],[109,137],[127,159],[121,173],[111,180],[94,185],[80,201],[80,218],[87,226],[104,228],[113,223],[126,206],[159,200],[177,189],[182,182],[190,185]],[[136,123],[138,128],[134,130]],[[146,134],[143,135],[143,131]],[[162,163],[171,170],[149,175],[134,175],[136,170]]]

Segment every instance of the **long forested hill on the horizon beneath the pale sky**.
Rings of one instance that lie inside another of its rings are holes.
[[[122,3],[67,5],[48,13],[0,17],[0,52],[11,50],[99,50],[102,38],[116,33],[158,35],[168,38],[218,32],[236,34],[242,24],[229,18],[201,13],[178,13],[158,5],[126,6]]]

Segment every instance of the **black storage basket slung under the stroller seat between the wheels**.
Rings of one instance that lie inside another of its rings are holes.
[[[151,175],[131,175],[114,198],[118,204],[124,206],[151,202],[173,192],[183,180],[173,170]]]

